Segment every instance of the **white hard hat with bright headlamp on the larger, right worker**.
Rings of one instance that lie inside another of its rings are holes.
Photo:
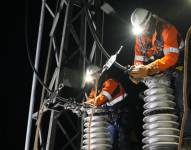
[[[136,8],[131,14],[131,24],[134,34],[142,34],[151,20],[152,13],[143,8]]]

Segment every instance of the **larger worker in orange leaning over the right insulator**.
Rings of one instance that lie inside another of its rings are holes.
[[[183,90],[180,89],[183,89],[184,42],[180,33],[174,25],[143,8],[133,11],[131,24],[136,35],[136,42],[134,66],[130,72],[130,79],[138,83],[138,79],[149,75],[162,72],[169,74],[174,79],[178,115],[182,118]],[[184,138],[191,140],[190,109]]]

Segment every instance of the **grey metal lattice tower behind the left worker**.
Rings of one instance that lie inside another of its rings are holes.
[[[40,51],[43,46],[42,40],[45,38],[43,31],[47,21],[45,15],[48,15],[52,18],[52,25],[48,31],[49,37],[46,37],[46,39],[49,39],[49,46],[46,54],[46,66],[44,67],[44,83],[52,91],[58,90],[63,85],[62,94],[66,96],[68,91],[65,91],[65,87],[71,89],[81,88],[82,76],[88,64],[102,65],[104,58],[102,58],[102,52],[98,47],[101,46],[103,40],[104,13],[100,9],[103,1],[57,0],[54,3],[56,5],[52,6],[52,4],[49,5],[48,0],[42,0],[35,68],[38,70]],[[92,9],[87,10],[84,7],[85,3]],[[92,17],[89,18],[89,27],[87,15]],[[94,32],[96,31],[93,36],[91,28]],[[101,48],[103,49],[103,47]],[[107,52],[105,52],[105,55],[108,57]],[[36,104],[34,102],[36,84],[37,78],[34,74],[25,150],[30,149],[31,145],[35,150],[80,149],[81,119],[67,111],[47,112],[42,110],[43,102],[54,93],[47,92],[43,87],[41,100]],[[37,113],[33,112],[34,105],[40,105]],[[38,115],[37,126],[34,127],[36,134],[33,140],[31,130],[33,128],[32,118],[34,118],[34,114]]]

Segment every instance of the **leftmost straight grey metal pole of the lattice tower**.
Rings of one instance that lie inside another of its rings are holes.
[[[39,66],[40,48],[41,48],[42,31],[43,31],[44,15],[45,15],[45,1],[46,0],[42,0],[42,5],[41,5],[41,15],[40,15],[38,39],[37,39],[37,46],[36,46],[36,56],[35,56],[35,69],[36,70],[38,70],[38,66]],[[35,102],[36,85],[37,85],[37,78],[36,78],[35,73],[33,73],[30,107],[29,107],[28,123],[27,123],[27,132],[26,132],[26,139],[25,139],[25,150],[29,150],[29,148],[30,148],[32,114],[33,114],[34,102]]]

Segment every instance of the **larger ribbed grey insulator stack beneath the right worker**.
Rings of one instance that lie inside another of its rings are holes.
[[[179,124],[170,77],[160,74],[143,82],[148,87],[144,91],[143,150],[176,150]]]

